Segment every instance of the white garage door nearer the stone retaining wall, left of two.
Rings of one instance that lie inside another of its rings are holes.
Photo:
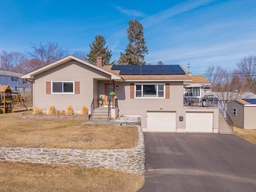
[[[147,112],[147,130],[176,132],[176,112]]]

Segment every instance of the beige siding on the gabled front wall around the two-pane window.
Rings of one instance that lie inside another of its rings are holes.
[[[35,76],[34,106],[45,111],[50,106],[66,110],[71,105],[75,112],[82,106],[90,110],[92,99],[97,101],[98,83],[95,79],[107,79],[110,75],[76,61],[66,62]],[[80,94],[46,94],[47,81],[78,81]]]

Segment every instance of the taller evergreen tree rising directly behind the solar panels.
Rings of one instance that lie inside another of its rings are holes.
[[[129,28],[126,30],[129,40],[125,53],[120,53],[118,64],[145,65],[145,54],[148,54],[148,47],[144,40],[143,26],[136,19],[129,21]]]

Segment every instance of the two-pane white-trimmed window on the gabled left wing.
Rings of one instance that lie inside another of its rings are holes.
[[[52,93],[74,94],[73,81],[52,81]]]

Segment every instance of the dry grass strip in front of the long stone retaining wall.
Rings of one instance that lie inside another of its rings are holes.
[[[80,166],[0,161],[1,192],[135,192],[144,176]]]

